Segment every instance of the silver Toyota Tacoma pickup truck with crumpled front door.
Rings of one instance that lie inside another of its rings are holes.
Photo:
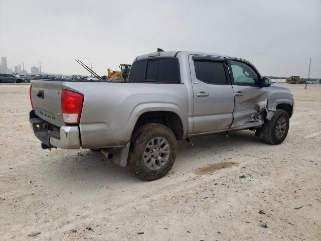
[[[285,139],[294,100],[248,61],[200,52],[135,58],[128,81],[32,80],[30,124],[43,149],[99,150],[138,178],[161,178],[177,140],[249,129]]]

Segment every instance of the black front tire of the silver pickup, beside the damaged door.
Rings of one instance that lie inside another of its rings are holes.
[[[282,135],[278,132],[279,129],[278,122],[282,122],[285,120],[285,128],[282,128]],[[284,130],[283,130],[284,129]],[[270,145],[278,145],[281,144],[287,136],[289,130],[289,116],[287,112],[283,109],[276,109],[273,117],[270,121],[267,119],[263,125],[263,140]]]

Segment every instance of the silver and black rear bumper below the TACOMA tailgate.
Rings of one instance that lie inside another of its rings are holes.
[[[80,149],[78,126],[53,126],[39,118],[34,110],[29,113],[29,122],[35,136],[49,148]]]

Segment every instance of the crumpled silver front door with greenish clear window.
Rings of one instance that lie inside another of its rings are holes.
[[[261,88],[260,74],[251,64],[238,59],[228,62],[235,96],[231,128],[238,128],[255,122],[255,114],[267,104],[267,93]]]

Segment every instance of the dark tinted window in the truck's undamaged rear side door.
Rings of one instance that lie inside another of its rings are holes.
[[[208,84],[227,84],[223,62],[194,61],[196,78]]]

